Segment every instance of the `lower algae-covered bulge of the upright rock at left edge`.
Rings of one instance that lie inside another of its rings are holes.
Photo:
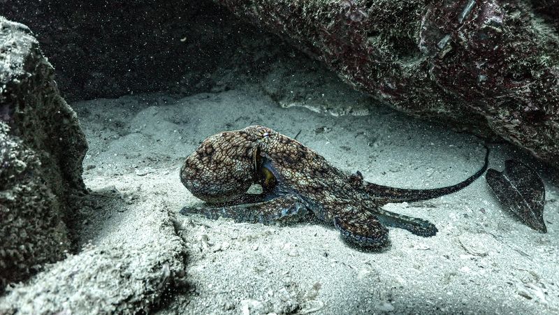
[[[41,161],[0,122],[0,288],[64,258],[71,248]]]

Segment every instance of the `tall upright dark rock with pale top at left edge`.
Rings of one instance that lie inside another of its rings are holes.
[[[0,17],[0,291],[71,249],[85,135],[22,24]]]

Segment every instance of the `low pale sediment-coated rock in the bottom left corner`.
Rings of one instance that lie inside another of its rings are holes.
[[[143,207],[124,214],[130,223],[120,233],[104,221],[96,233],[107,237],[10,288],[0,298],[0,314],[149,313],[184,284],[186,254],[170,208]]]

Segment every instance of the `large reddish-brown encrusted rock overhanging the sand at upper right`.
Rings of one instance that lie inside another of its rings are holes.
[[[559,167],[553,1],[217,2],[398,110],[495,133]]]

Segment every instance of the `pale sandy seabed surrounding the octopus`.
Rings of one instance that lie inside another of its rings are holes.
[[[326,98],[334,88],[325,88]],[[320,89],[314,95],[321,95]],[[114,186],[124,200],[101,203],[99,216],[87,222],[83,242],[142,237],[141,226],[136,235],[119,230],[129,231],[122,226],[161,203],[176,212],[201,203],[180,183],[184,157],[209,135],[251,124],[290,136],[300,132],[300,142],[335,166],[361,170],[365,180],[377,184],[435,188],[460,182],[483,164],[484,149],[471,135],[374,103],[368,112],[349,110],[352,101],[363,103],[362,96],[341,98],[342,108],[335,97],[326,99],[326,111],[368,115],[333,117],[280,108],[250,86],[180,99],[150,94],[73,104],[89,141],[87,186],[93,191]],[[490,167],[501,170],[512,152],[506,146],[491,149]],[[187,241],[189,287],[159,312],[559,312],[558,190],[548,183],[546,188],[546,234],[505,213],[481,177],[449,196],[386,205],[386,210],[432,221],[439,233],[425,238],[391,229],[391,246],[377,253],[347,247],[336,230],[325,226],[235,224],[178,215]]]

